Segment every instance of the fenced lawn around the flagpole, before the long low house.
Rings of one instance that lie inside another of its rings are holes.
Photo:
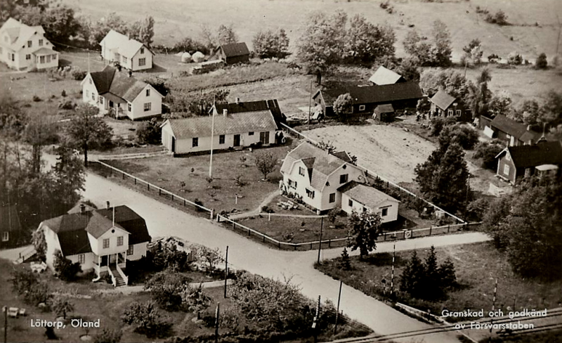
[[[189,200],[198,199],[205,207],[221,211],[246,212],[259,207],[266,196],[278,188],[281,174],[276,170],[263,181],[263,174],[254,164],[254,153],[267,151],[273,153],[277,160],[285,158],[292,148],[289,143],[283,146],[263,150],[240,150],[213,155],[213,179],[209,182],[209,155],[190,157],[171,157],[169,155],[131,160],[106,161],[113,167],[126,171],[140,179],[169,190]],[[280,167],[280,162],[279,162]],[[107,170],[101,171],[107,175]],[[115,180],[121,180],[113,174]],[[236,176],[240,176],[243,186],[237,185]],[[185,183],[185,184],[184,184]],[[126,186],[135,187],[132,180],[125,181]],[[182,186],[183,185],[183,186]],[[136,188],[143,189],[145,188]],[[152,196],[157,196],[150,193]],[[237,200],[235,199],[237,195]],[[164,195],[159,198],[164,198]]]

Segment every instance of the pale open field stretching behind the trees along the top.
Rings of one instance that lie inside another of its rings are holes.
[[[558,34],[556,13],[562,12],[558,0],[487,1],[452,0],[444,3],[422,3],[419,0],[391,1],[394,13],[388,14],[379,4],[370,0],[64,0],[81,14],[93,19],[116,12],[126,20],[138,20],[146,15],[155,18],[155,44],[167,46],[183,37],[199,38],[202,25],[216,30],[218,25],[233,25],[240,41],[251,44],[259,30],[285,28],[291,46],[303,31],[303,25],[312,11],[346,11],[349,17],[363,14],[371,22],[388,24],[396,30],[397,52],[403,55],[403,41],[414,25],[424,34],[430,34],[431,23],[440,19],[449,27],[454,56],[470,39],[483,42],[485,56],[497,53],[507,56],[520,51],[525,58],[535,58],[539,53],[552,56],[556,51]],[[491,13],[502,9],[514,25],[501,27],[488,24],[476,14],[476,6],[488,8]],[[259,10],[256,10],[258,9]],[[535,22],[539,26],[534,26]],[[513,40],[511,40],[513,37]]]

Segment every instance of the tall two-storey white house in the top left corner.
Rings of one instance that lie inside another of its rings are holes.
[[[0,62],[15,70],[42,70],[58,67],[58,52],[43,27],[9,18],[0,27]]]

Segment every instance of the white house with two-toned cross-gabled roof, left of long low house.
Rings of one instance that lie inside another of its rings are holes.
[[[142,119],[162,114],[162,94],[109,65],[100,72],[89,72],[81,82],[82,101],[112,112],[115,117]]]

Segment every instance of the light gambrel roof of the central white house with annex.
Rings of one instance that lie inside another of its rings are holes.
[[[283,174],[289,174],[294,162],[302,161],[308,168],[308,177],[311,186],[316,190],[322,191],[326,186],[328,177],[344,164],[351,162],[351,158],[346,152],[329,154],[317,146],[303,142],[287,153],[281,166]]]

